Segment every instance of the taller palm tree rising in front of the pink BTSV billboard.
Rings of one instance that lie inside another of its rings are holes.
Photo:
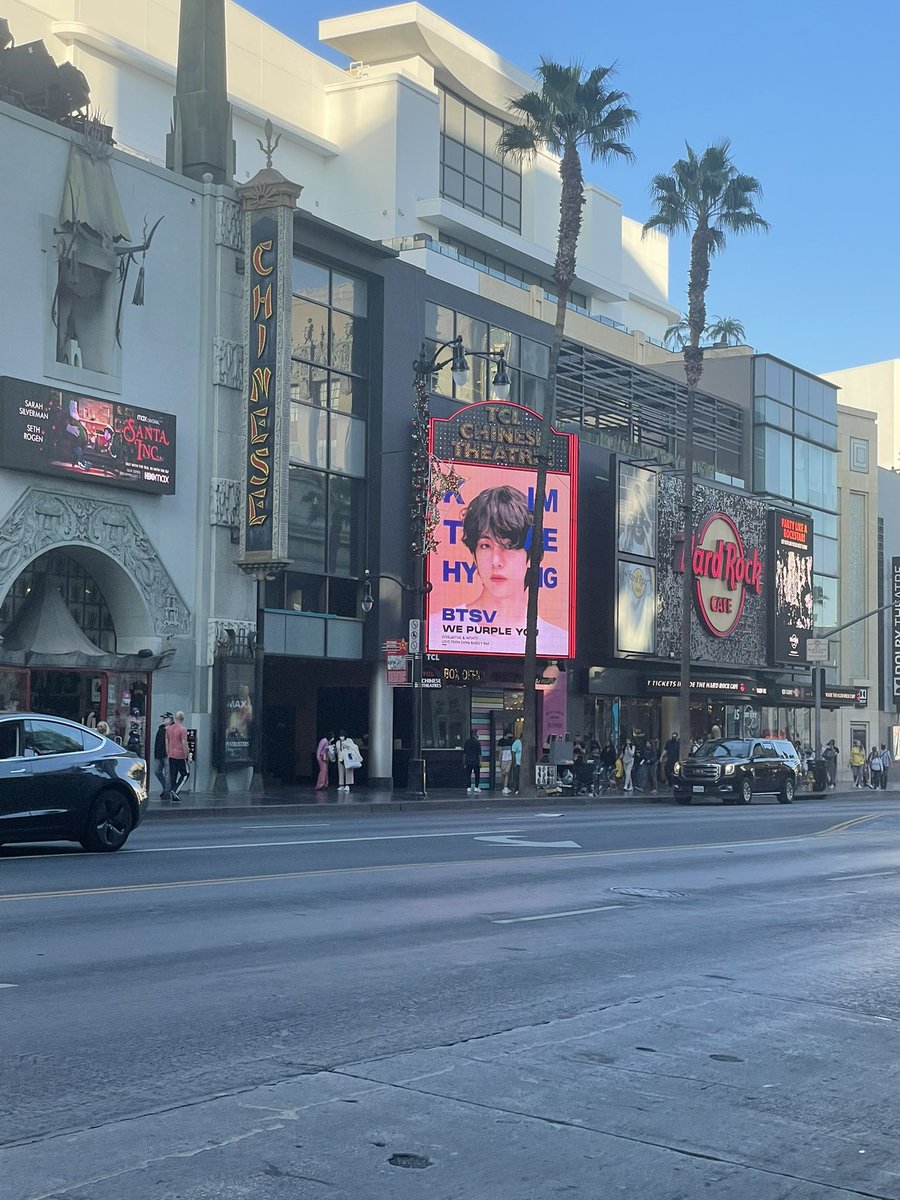
[[[550,371],[544,403],[541,444],[538,454],[538,475],[534,486],[534,526],[532,554],[526,577],[528,608],[523,685],[523,730],[521,778],[529,790],[534,786],[534,748],[536,738],[535,682],[538,678],[538,588],[540,560],[544,553],[544,503],[547,492],[551,427],[556,409],[556,382],[559,352],[565,330],[565,306],[575,280],[575,257],[584,206],[584,176],[581,155],[592,162],[634,158],[625,138],[637,120],[623,91],[607,86],[614,67],[594,67],[587,72],[582,64],[560,66],[541,59],[538,67],[540,91],[527,91],[509,101],[510,112],[518,124],[508,125],[498,149],[521,161],[532,160],[539,150],[550,150],[559,158],[559,229],[553,278],[557,284],[557,317],[550,350]]]

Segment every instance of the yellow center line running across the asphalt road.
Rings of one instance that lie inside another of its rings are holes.
[[[511,856],[503,858],[463,858],[449,863],[384,863],[374,866],[331,866],[307,871],[278,871],[271,875],[226,875],[214,880],[172,880],[170,882],[163,883],[122,883],[118,887],[106,888],[66,888],[55,892],[18,892],[11,893],[10,895],[0,895],[0,904],[12,904],[23,900],[61,900],[68,899],[70,896],[125,895],[137,892],[178,890],[181,888],[218,888],[228,887],[235,883],[269,883],[277,880],[305,880],[330,875],[366,875],[372,874],[373,871],[421,871],[448,866],[496,866],[498,863],[518,865],[520,863],[546,863],[554,860],[570,862],[574,858],[617,858],[635,854],[674,854],[692,850],[736,850],[740,847],[772,846],[778,844],[784,845],[787,842],[806,841],[810,838],[824,838],[829,834],[844,833],[852,826],[862,824],[865,821],[877,821],[882,816],[887,816],[887,814],[872,812],[869,816],[859,816],[854,817],[852,821],[842,821],[840,824],[829,826],[827,829],[817,829],[812,833],[794,834],[793,836],[785,838],[755,838],[745,841],[707,841],[682,846],[636,846],[630,850],[586,850],[577,854],[568,852],[564,854],[528,854],[518,858],[512,858]]]

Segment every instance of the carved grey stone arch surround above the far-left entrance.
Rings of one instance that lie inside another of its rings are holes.
[[[0,522],[0,578],[48,550],[90,546],[115,559],[144,598],[158,637],[190,632],[191,614],[127,504],[30,487]]]

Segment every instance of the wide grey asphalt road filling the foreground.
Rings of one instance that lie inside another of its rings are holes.
[[[5,847],[2,1200],[900,1200],[900,802],[557,811]]]

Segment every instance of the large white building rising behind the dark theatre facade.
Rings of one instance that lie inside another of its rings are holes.
[[[85,73],[122,148],[164,163],[179,0],[10,0],[6,11],[19,42],[43,38]],[[347,54],[346,70],[227,5],[238,182],[256,172],[270,118],[278,168],[304,185],[301,209],[552,322],[558,164],[542,154],[520,169],[494,151],[508,98],[533,79],[419,4],[319,30]],[[643,361],[644,338],[661,340],[677,317],[667,287],[666,238],[642,239],[620,200],[588,184],[566,332]]]

